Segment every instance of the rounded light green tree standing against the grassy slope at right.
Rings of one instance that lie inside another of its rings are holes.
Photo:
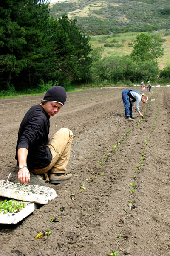
[[[136,37],[136,44],[133,46],[131,58],[136,63],[139,61],[153,61],[164,55],[161,38],[154,35],[153,37],[147,33],[140,33]]]

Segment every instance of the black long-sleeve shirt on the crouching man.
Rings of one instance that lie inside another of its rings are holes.
[[[48,166],[52,154],[48,148],[48,134],[50,116],[40,104],[32,106],[24,116],[18,131],[15,159],[18,163],[17,151],[19,148],[28,149],[28,169],[41,169]]]

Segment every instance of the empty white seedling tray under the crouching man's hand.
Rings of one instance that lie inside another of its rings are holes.
[[[45,186],[24,185],[0,180],[0,196],[38,204],[47,204],[57,194],[54,189]]]

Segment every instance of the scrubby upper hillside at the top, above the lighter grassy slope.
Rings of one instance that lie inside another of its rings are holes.
[[[51,15],[77,18],[86,35],[170,28],[170,0],[70,0],[51,3]]]

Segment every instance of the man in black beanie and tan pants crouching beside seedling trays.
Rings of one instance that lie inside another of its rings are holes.
[[[61,128],[49,140],[50,117],[64,106],[67,95],[64,87],[51,87],[38,105],[24,116],[18,131],[16,146],[18,180],[20,183],[48,186],[69,180],[66,174],[73,133]]]

